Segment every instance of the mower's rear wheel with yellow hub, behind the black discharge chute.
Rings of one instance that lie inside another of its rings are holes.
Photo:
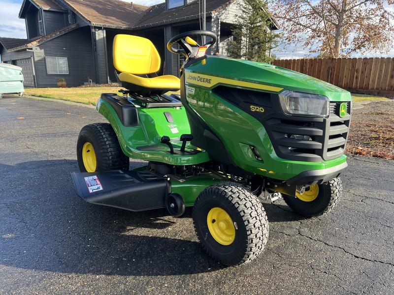
[[[86,125],[77,142],[77,159],[81,172],[129,170],[130,160],[119,146],[118,138],[108,123]]]

